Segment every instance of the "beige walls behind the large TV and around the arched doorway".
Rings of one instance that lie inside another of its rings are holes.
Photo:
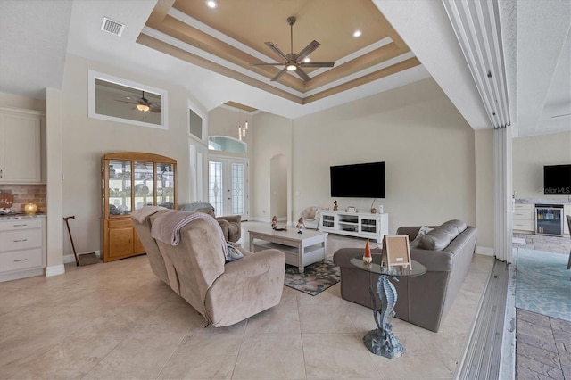
[[[273,131],[277,124],[268,119],[264,127]],[[280,140],[287,141],[256,133],[255,152],[266,145],[271,151]],[[385,161],[386,198],[375,204],[390,214],[390,233],[448,219],[476,223],[474,131],[433,79],[296,119],[292,146],[291,218],[310,205],[333,207],[329,166]],[[261,192],[264,170],[254,175]],[[367,178],[362,184],[367,186]],[[263,210],[266,200],[257,194],[253,200],[254,211]],[[337,201],[340,210],[353,205],[368,211],[373,200]]]

